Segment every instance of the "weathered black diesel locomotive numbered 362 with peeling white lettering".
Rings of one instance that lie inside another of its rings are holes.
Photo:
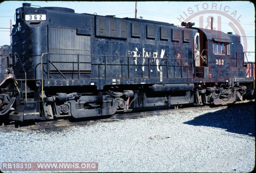
[[[1,49],[0,119],[94,117],[251,99],[240,36],[24,3]]]

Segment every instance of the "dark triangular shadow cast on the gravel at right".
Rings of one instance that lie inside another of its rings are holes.
[[[226,129],[227,132],[255,136],[254,114],[254,105],[231,107],[195,117],[184,124],[216,127]]]

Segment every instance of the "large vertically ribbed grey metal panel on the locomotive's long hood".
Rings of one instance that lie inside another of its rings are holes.
[[[90,36],[76,35],[76,29],[49,27],[48,32],[49,53],[64,54],[48,56],[56,68],[60,71],[77,71],[79,54],[79,70],[91,71]],[[50,71],[56,71],[51,64]]]

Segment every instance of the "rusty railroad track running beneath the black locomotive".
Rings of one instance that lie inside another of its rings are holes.
[[[136,111],[126,114],[114,114],[112,116],[99,116],[99,117],[88,117],[88,118],[70,118],[70,119],[63,119],[63,120],[48,120],[48,121],[40,121],[40,122],[28,122],[24,124],[17,124],[15,122],[11,122],[7,125],[0,125],[0,132],[8,132],[8,131],[24,131],[24,130],[40,130],[40,129],[52,129],[58,127],[68,127],[68,126],[83,126],[83,125],[91,125],[99,122],[111,122],[116,121],[116,119],[124,119],[124,118],[139,118],[139,117],[146,117],[152,115],[161,115],[166,113],[178,112],[178,111],[188,111],[188,110],[206,110],[206,109],[219,109],[219,108],[228,108],[228,107],[237,107],[237,106],[244,106],[244,105],[251,105],[255,104],[255,100],[252,101],[240,101],[234,104],[228,105],[220,105],[220,106],[176,106],[172,109],[152,109],[152,110],[142,110]]]

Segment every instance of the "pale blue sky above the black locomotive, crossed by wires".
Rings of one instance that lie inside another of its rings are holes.
[[[135,1],[4,1],[0,4],[0,45],[10,45],[10,19],[15,24],[15,9],[22,3],[41,7],[66,7],[76,13],[116,15],[117,18],[134,18]],[[36,6],[35,6],[36,7]],[[241,43],[248,61],[255,62],[255,7],[250,1],[138,1],[137,17],[146,20],[172,23],[180,26],[182,21],[194,22],[195,27],[213,29],[242,36]],[[7,29],[6,29],[7,28]],[[250,52],[250,53],[248,53]]]

